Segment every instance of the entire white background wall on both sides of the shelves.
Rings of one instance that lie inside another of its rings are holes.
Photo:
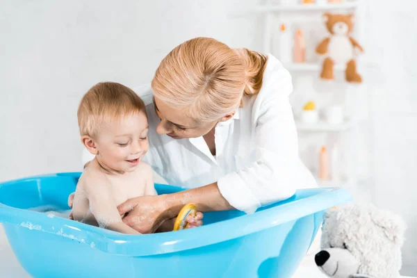
[[[361,132],[375,174],[363,191],[406,218],[404,273],[417,275],[416,1],[363,1],[362,43],[375,63],[363,72],[370,129]],[[76,108],[94,83],[149,82],[170,49],[196,36],[261,50],[262,18],[231,16],[251,3],[2,1],[0,181],[81,170]]]

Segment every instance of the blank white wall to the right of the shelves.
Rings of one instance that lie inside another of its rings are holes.
[[[407,220],[403,272],[417,276],[417,2],[368,2],[374,200]]]

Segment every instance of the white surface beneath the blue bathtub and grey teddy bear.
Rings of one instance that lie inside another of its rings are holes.
[[[13,250],[8,244],[3,226],[0,225],[0,277],[2,278],[31,278],[19,265]],[[312,257],[303,261],[293,278],[326,278],[313,264]],[[407,277],[404,277],[407,278]],[[411,278],[411,277],[409,277]]]

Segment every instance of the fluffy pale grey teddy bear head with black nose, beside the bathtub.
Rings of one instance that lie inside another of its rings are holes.
[[[325,213],[315,261],[329,277],[399,277],[403,220],[371,204],[349,204]]]

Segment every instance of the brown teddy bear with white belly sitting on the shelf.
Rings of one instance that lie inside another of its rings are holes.
[[[359,43],[350,37],[353,15],[325,13],[324,20],[330,36],[322,40],[316,47],[316,53],[325,55],[323,61],[322,79],[334,79],[334,64],[345,64],[345,77],[348,82],[361,83],[362,78],[357,73],[354,57],[363,52]]]

